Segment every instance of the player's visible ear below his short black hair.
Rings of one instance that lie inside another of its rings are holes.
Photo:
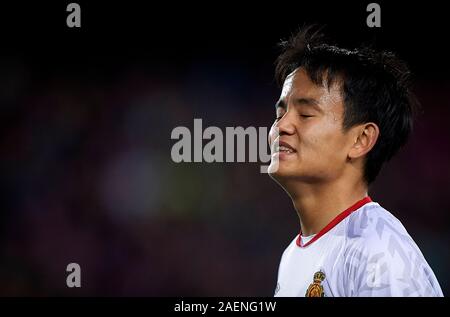
[[[380,129],[373,122],[355,127],[354,144],[348,153],[348,159],[356,159],[366,155],[374,146],[380,135]]]

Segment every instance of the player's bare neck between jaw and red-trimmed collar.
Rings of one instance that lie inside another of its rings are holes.
[[[288,186],[300,219],[302,235],[318,233],[338,214],[368,195],[364,182],[297,183]]]

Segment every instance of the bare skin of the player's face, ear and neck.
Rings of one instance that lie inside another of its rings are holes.
[[[291,197],[304,236],[368,195],[364,160],[379,128],[368,122],[345,130],[343,115],[340,83],[316,85],[302,68],[287,76],[269,133],[269,174]],[[277,152],[278,142],[294,152]]]

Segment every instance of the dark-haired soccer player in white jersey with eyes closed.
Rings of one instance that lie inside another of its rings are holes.
[[[403,225],[368,195],[412,130],[407,66],[390,52],[328,44],[316,27],[282,44],[269,174],[300,233],[281,257],[275,296],[443,296]]]

